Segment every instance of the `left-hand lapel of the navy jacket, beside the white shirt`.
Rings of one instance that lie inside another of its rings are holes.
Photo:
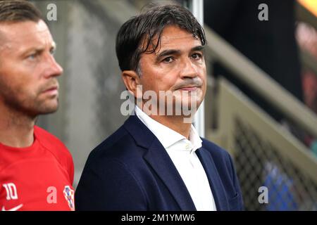
[[[125,128],[133,136],[139,146],[147,149],[144,160],[154,169],[162,179],[181,210],[196,210],[192,198],[180,177],[175,165],[166,153],[156,136],[137,118],[130,116],[125,122]]]

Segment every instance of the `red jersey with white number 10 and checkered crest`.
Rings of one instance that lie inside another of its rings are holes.
[[[73,158],[37,126],[27,148],[0,143],[0,210],[74,210]]]

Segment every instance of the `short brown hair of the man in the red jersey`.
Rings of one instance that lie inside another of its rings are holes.
[[[23,0],[0,0],[0,23],[38,22],[42,15],[33,4]]]

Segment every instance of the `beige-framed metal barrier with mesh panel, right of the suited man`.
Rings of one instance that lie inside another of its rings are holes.
[[[225,79],[217,86],[210,101],[219,128],[207,129],[207,138],[232,155],[246,210],[317,210],[316,157]],[[267,203],[260,187],[268,188]]]

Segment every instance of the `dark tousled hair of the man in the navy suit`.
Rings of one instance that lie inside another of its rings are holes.
[[[178,5],[155,6],[130,18],[117,34],[116,54],[120,69],[138,70],[142,53],[154,53],[160,45],[163,29],[176,25],[206,43],[204,29],[186,8]],[[157,41],[154,41],[156,39]],[[154,43],[155,42],[155,43]]]

